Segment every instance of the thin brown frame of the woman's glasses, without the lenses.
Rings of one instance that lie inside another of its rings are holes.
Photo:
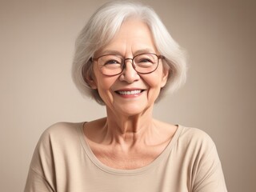
[[[143,53],[143,54],[153,54],[153,53]],[[97,66],[98,66],[98,70],[101,71],[102,73],[102,69],[99,67],[98,65],[98,59],[99,58],[102,58],[104,56],[107,56],[107,55],[114,55],[114,56],[118,56],[118,57],[122,57],[121,55],[118,55],[118,54],[103,54],[101,56],[99,56],[98,58],[90,58],[90,61],[91,62],[97,62]],[[134,56],[134,58],[138,57],[139,55],[142,55],[142,54],[137,54]],[[158,65],[159,65],[159,59],[165,59],[165,56],[163,56],[162,54],[154,54],[157,58],[158,58]],[[135,66],[134,66],[134,58],[123,58],[123,63],[122,63],[122,70],[120,73],[118,74],[122,74],[123,70],[126,68],[126,60],[131,60],[131,65],[133,66],[134,70],[138,73],[138,74],[151,74],[153,73],[155,70],[158,69],[158,65],[156,66],[156,68],[150,72],[146,72],[146,73],[141,73],[141,72],[138,72],[136,69],[135,69]],[[103,73],[102,73],[103,74]],[[115,76],[115,75],[118,75],[118,74],[104,74],[106,76]]]

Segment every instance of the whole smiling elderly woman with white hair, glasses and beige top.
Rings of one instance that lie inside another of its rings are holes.
[[[210,137],[152,117],[167,87],[186,78],[182,51],[154,10],[127,2],[99,8],[77,39],[73,78],[106,106],[106,118],[47,129],[26,192],[226,191]]]

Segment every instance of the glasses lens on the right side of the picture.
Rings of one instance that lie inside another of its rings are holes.
[[[135,70],[141,74],[153,72],[158,67],[158,56],[155,54],[138,54],[134,57]]]

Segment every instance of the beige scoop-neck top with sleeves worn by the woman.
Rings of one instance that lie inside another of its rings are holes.
[[[225,192],[214,142],[202,130],[178,126],[150,165],[117,170],[100,162],[86,143],[83,123],[61,122],[40,138],[25,192]]]

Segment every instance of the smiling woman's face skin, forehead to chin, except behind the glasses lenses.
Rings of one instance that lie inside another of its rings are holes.
[[[103,54],[118,54],[123,58],[134,58],[137,54],[158,54],[149,27],[136,19],[124,22],[111,42],[98,50],[95,58]],[[154,105],[156,98],[165,86],[168,70],[163,70],[162,59],[158,69],[150,74],[138,74],[131,60],[126,60],[122,74],[106,76],[101,73],[94,62],[94,80],[91,86],[98,89],[107,110],[114,113],[141,114]]]

